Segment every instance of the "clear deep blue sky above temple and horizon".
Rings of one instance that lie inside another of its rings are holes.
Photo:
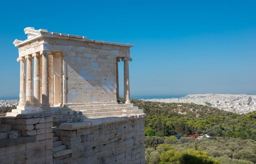
[[[254,0],[3,1],[0,96],[19,95],[12,42],[26,39],[25,27],[134,44],[131,94],[255,92],[255,8]]]

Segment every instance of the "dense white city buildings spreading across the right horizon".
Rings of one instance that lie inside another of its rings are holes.
[[[256,110],[256,95],[247,94],[189,94],[181,98],[146,99],[154,102],[196,103],[217,107],[235,113],[248,113]]]

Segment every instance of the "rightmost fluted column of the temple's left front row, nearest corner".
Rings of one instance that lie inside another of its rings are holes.
[[[49,104],[49,50],[41,50],[42,55],[42,104],[41,107],[50,107]]]

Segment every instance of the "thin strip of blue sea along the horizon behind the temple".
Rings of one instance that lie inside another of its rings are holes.
[[[131,94],[130,97],[133,99],[165,99],[165,98],[181,98],[185,97],[186,94]],[[120,95],[123,97],[123,95]],[[13,100],[19,99],[19,96],[0,96],[0,100]]]

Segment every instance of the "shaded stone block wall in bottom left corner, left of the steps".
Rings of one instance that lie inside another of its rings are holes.
[[[0,139],[0,163],[52,163],[53,133],[50,114],[40,112],[1,117],[19,136],[15,139]]]

